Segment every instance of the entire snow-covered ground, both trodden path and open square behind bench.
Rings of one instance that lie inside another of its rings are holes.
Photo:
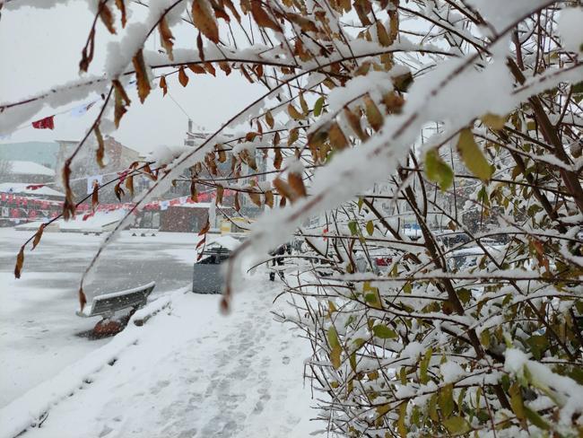
[[[13,250],[25,235],[0,232],[1,438],[27,427],[24,436],[108,438],[303,437],[322,427],[309,422],[313,400],[302,380],[309,346],[290,326],[274,321],[270,311],[285,303],[272,303],[281,284],[266,281],[265,272],[249,280],[226,317],[218,311],[217,295],[170,292],[177,289],[174,283],[161,282],[153,296],[159,301],[150,306],[168,307],[142,327],[130,323],[116,337],[90,341],[76,335],[95,321],[74,316],[74,290],[100,238],[47,234],[39,253],[27,254],[22,279],[13,280]],[[141,243],[147,250],[139,254],[149,257],[140,259],[140,276],[145,266],[152,276],[156,268],[177,267],[167,274],[186,285],[194,258],[187,240],[195,237],[124,234],[109,257],[135,267]],[[178,258],[159,263],[173,248]],[[44,263],[63,267],[43,270]],[[102,268],[113,269],[107,262]],[[39,417],[40,427],[30,427]]]

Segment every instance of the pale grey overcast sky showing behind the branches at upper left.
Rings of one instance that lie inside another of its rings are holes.
[[[39,0],[43,1],[43,0]],[[139,13],[138,13],[139,14]],[[136,15],[139,16],[139,15]],[[0,20],[0,102],[20,101],[50,86],[78,77],[78,65],[92,14],[84,0],[74,0],[49,10],[24,7],[18,11],[2,11]],[[117,27],[119,23],[116,22]],[[192,41],[196,49],[196,32],[187,25],[172,29],[177,46]],[[99,23],[93,73],[100,74],[108,32]],[[158,41],[149,41],[146,48],[159,48]],[[182,46],[186,47],[186,46]],[[169,91],[195,125],[213,130],[222,121],[242,109],[246,102],[263,90],[251,85],[237,73],[228,78],[217,69],[217,78],[189,74],[187,88],[182,88],[176,75],[169,79]],[[152,90],[144,105],[137,96],[113,136],[122,144],[140,152],[149,152],[156,145],[182,144],[187,130],[187,116],[170,96],[162,98],[161,90]],[[90,100],[91,101],[91,100]],[[83,102],[81,102],[83,103]],[[61,109],[45,107],[35,118],[43,118],[78,106],[72,103]],[[55,129],[34,129],[27,126],[14,132],[2,143],[24,141],[76,140],[99,112],[95,105],[82,118],[68,114],[55,118]],[[0,116],[2,117],[2,116]]]

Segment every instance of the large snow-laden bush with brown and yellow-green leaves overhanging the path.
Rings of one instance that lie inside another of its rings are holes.
[[[6,2],[3,20],[29,3]],[[104,71],[0,104],[0,130],[99,92],[88,136],[102,144],[100,127],[136,104],[130,79],[141,101],[173,74],[265,85],[199,145],[136,163],[130,175],[156,184],[135,203],[192,168],[194,192],[230,188],[268,207],[231,258],[225,308],[249,257],[305,241],[287,280],[297,312],[281,317],[313,346],[308,377],[333,433],[583,434],[578,2],[151,0],[144,22],[124,0],[90,3],[118,35]],[[195,47],[173,48],[180,20]],[[95,26],[83,71],[104,49]],[[144,48],[152,32],[164,53]],[[223,136],[238,123],[248,128]],[[257,175],[257,152],[271,183],[239,185]],[[215,180],[225,153],[231,173]],[[75,202],[68,190],[65,216]]]

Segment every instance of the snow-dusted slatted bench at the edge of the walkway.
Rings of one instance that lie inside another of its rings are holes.
[[[100,320],[93,329],[93,335],[105,336],[115,334],[126,326],[127,321],[132,314],[143,307],[148,301],[148,295],[152,293],[155,282],[141,285],[125,291],[114,293],[104,293],[93,298],[93,301],[83,308],[83,311],[77,311],[77,315],[83,318],[101,316]],[[120,311],[129,310],[125,315],[113,320]]]

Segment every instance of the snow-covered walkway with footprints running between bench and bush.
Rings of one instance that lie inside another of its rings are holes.
[[[308,436],[322,426],[302,381],[309,346],[274,321],[281,286],[248,286],[226,317],[217,295],[161,297],[170,305],[144,326],[0,409],[0,437]]]

